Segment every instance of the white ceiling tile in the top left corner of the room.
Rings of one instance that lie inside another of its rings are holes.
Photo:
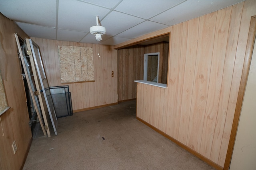
[[[55,0],[1,0],[0,12],[13,21],[56,27]]]

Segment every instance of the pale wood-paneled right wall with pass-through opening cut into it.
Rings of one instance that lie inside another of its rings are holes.
[[[221,167],[255,9],[246,0],[169,27],[167,88],[138,83],[137,116]]]

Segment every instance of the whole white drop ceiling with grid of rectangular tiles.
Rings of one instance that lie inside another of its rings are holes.
[[[117,45],[244,0],[0,0],[0,12],[30,37]],[[106,27],[102,41],[90,27]]]

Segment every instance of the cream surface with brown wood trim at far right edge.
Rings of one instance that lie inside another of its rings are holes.
[[[248,35],[247,46],[246,46],[246,54],[244,59],[242,77],[241,77],[241,82],[240,82],[240,87],[238,92],[238,98],[236,102],[234,121],[232,124],[230,141],[229,141],[228,151],[226,154],[226,160],[224,164],[225,170],[228,168],[234,169],[234,167],[236,167],[237,169],[253,169],[253,167],[256,167],[256,164],[255,164],[256,162],[254,159],[255,153],[256,153],[255,151],[256,143],[254,143],[254,141],[256,140],[255,139],[256,134],[254,131],[255,128],[253,128],[256,120],[255,119],[256,115],[254,114],[255,109],[253,109],[255,107],[254,106],[255,100],[253,99],[255,98],[254,93],[256,91],[255,91],[255,83],[254,84],[252,83],[253,81],[256,80],[255,78],[252,78],[252,75],[254,74],[254,71],[256,68],[256,66],[253,66],[253,64],[256,64],[256,62],[254,61],[255,54],[256,54],[254,53],[256,48],[255,37],[256,37],[256,16],[252,16],[250,21],[250,28],[249,28],[249,35]],[[249,89],[251,89],[251,91],[249,92],[250,94],[248,94]],[[247,100],[248,99],[247,95],[250,96],[249,97],[250,101]],[[246,112],[246,114],[244,114],[244,112]],[[239,126],[238,126],[238,123],[239,123]],[[245,125],[246,128],[243,128],[242,127],[243,125]],[[237,145],[238,144],[237,141],[240,141],[239,146]],[[244,146],[247,147],[246,151],[244,151],[244,149],[241,149]]]

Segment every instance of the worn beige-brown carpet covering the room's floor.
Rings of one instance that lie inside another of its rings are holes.
[[[135,100],[59,118],[58,135],[34,139],[23,169],[214,170],[138,121]]]

